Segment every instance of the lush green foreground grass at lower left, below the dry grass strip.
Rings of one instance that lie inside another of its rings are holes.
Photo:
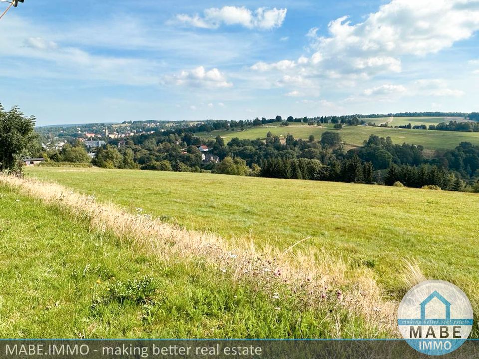
[[[281,286],[233,280],[201,258],[160,261],[125,238],[90,229],[85,218],[2,185],[0,204],[0,338],[371,333],[346,309],[305,307]]]

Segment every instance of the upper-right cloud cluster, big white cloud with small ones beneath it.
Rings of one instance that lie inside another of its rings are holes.
[[[377,75],[399,74],[405,56],[420,59],[437,53],[470,38],[477,30],[479,0],[392,0],[363,22],[352,24],[347,16],[331,21],[327,36],[318,35],[318,28],[312,28],[306,35],[310,41],[307,56],[258,62],[250,69],[271,72],[278,86],[294,78],[297,88],[286,95],[298,96],[300,90],[321,83],[335,81],[353,86]],[[433,96],[462,94],[444,84],[433,87],[436,89],[429,92]],[[383,84],[366,89],[364,94],[405,92],[404,85]]]

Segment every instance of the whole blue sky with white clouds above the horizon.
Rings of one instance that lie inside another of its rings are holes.
[[[478,30],[479,0],[25,0],[0,102],[39,126],[479,111]]]

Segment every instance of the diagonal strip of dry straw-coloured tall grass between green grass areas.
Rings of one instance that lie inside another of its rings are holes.
[[[351,269],[337,257],[319,251],[303,253],[290,248],[286,252],[279,252],[268,248],[258,252],[252,242],[237,243],[233,247],[214,234],[187,231],[161,223],[150,216],[133,215],[112,203],[97,203],[94,197],[78,194],[54,183],[1,174],[0,183],[86,218],[93,228],[112,231],[120,240],[124,240],[125,245],[133,243],[146,248],[158,255],[159,260],[199,256],[217,266],[219,271],[233,273],[237,279],[253,279],[261,286],[281,281],[293,292],[305,293],[304,301],[310,306],[321,305],[325,289],[339,291],[339,288],[343,288],[342,292],[338,292],[340,304],[351,314],[360,313],[372,324],[371,328],[377,330],[364,333],[363,337],[376,338],[380,333],[397,336],[397,303],[383,299],[372,272],[367,268]],[[333,335],[337,338],[351,336],[342,330],[339,319]]]

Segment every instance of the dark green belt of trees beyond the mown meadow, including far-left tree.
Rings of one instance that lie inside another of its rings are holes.
[[[45,151],[33,127],[34,117],[25,117],[18,108],[5,111],[0,106],[1,170],[18,167],[22,156],[43,156],[49,161],[91,162],[103,168],[400,183],[447,190],[476,188],[479,179],[479,146],[467,142],[425,159],[422,146],[393,144],[389,137],[376,135],[363,146],[346,151],[336,131],[324,132],[319,140],[314,136],[296,139],[290,134],[280,138],[269,132],[264,140],[233,138],[225,143],[220,136],[205,141],[185,127],[112,142],[96,149],[91,159],[79,141],[61,150]],[[206,154],[199,150],[200,145],[208,147]]]

